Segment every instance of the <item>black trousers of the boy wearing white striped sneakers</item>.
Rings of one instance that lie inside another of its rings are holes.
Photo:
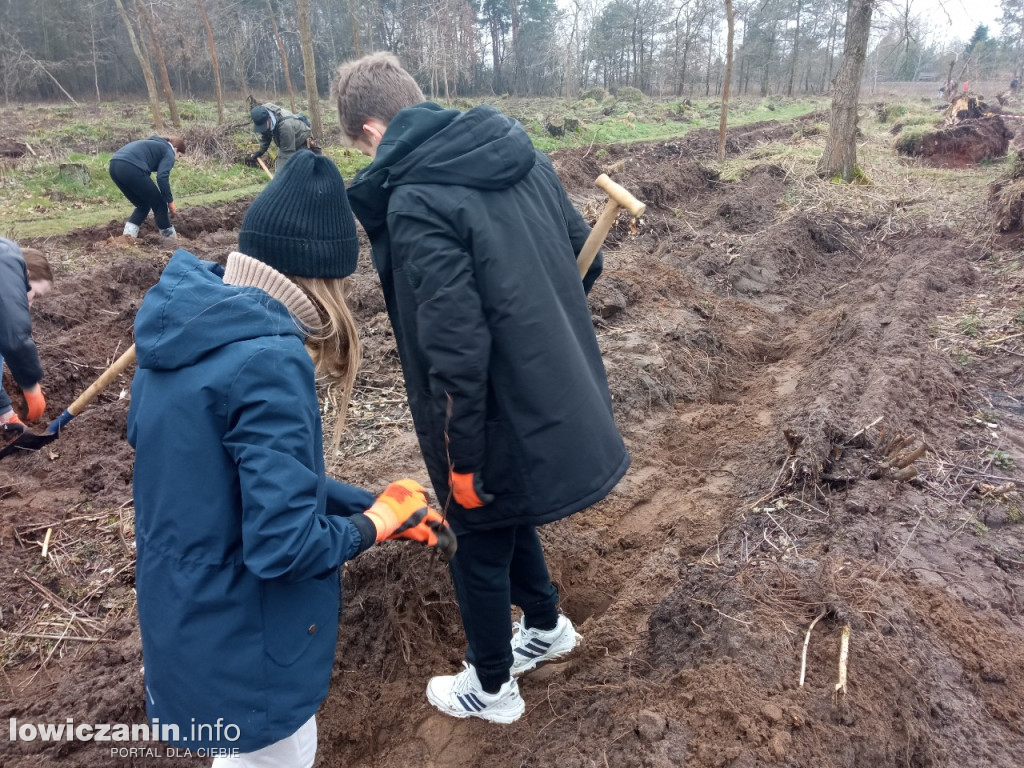
[[[522,608],[527,627],[547,629],[558,621],[558,590],[537,528],[460,532],[450,565],[469,643],[466,659],[484,688],[494,689],[509,679],[512,667],[511,606]]]

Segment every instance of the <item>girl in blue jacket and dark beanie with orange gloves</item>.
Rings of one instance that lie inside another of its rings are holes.
[[[303,152],[246,213],[226,267],[179,250],[135,319],[136,591],[145,705],[215,766],[306,768],[337,641],[339,572],[375,541],[454,551],[412,480],[328,477],[315,374],[347,402],[358,245],[344,182]],[[344,408],[342,408],[342,413]]]

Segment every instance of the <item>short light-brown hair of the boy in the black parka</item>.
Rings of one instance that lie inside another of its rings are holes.
[[[371,118],[390,123],[399,111],[426,101],[413,76],[393,53],[371,53],[346,61],[334,73],[331,95],[338,104],[338,122],[347,143],[362,135]]]

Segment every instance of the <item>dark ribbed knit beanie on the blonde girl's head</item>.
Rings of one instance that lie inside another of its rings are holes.
[[[359,241],[337,166],[308,150],[295,153],[246,211],[239,250],[285,274],[354,272]]]

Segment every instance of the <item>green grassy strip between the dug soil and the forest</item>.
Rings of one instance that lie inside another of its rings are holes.
[[[459,109],[478,101],[460,99]],[[632,141],[656,141],[680,137],[694,128],[718,129],[721,104],[717,99],[685,102],[679,99],[616,99],[607,96],[566,103],[564,99],[498,98],[492,102],[505,114],[523,123],[535,145],[542,152],[563,147],[590,146]],[[827,109],[823,99],[763,98],[738,100],[729,106],[729,126],[765,120],[787,121],[814,110]],[[303,104],[297,104],[303,109]],[[327,139],[325,154],[346,179],[369,162],[358,152],[339,145],[337,116],[330,104],[322,104]],[[128,203],[108,173],[111,154],[119,146],[154,133],[171,135],[199,131],[217,139],[220,157],[195,152],[178,159],[171,173],[171,188],[178,210],[197,205],[215,205],[257,194],[266,176],[259,168],[249,168],[226,156],[241,156],[256,146],[248,114],[242,102],[225,105],[225,125],[216,126],[214,102],[178,101],[182,118],[180,130],[168,126],[152,130],[144,103],[101,103],[79,108],[53,104],[17,104],[9,111],[19,135],[33,155],[13,167],[0,166],[0,233],[6,237],[37,238],[61,234],[70,229],[125,219]],[[608,114],[605,114],[608,113]],[[552,116],[574,117],[581,129],[552,137],[545,129]],[[165,115],[166,117],[166,115]],[[333,121],[333,122],[332,122]],[[213,151],[211,151],[213,152]],[[275,150],[271,150],[271,153]],[[60,165],[85,168],[88,180],[72,180],[61,174]]]

